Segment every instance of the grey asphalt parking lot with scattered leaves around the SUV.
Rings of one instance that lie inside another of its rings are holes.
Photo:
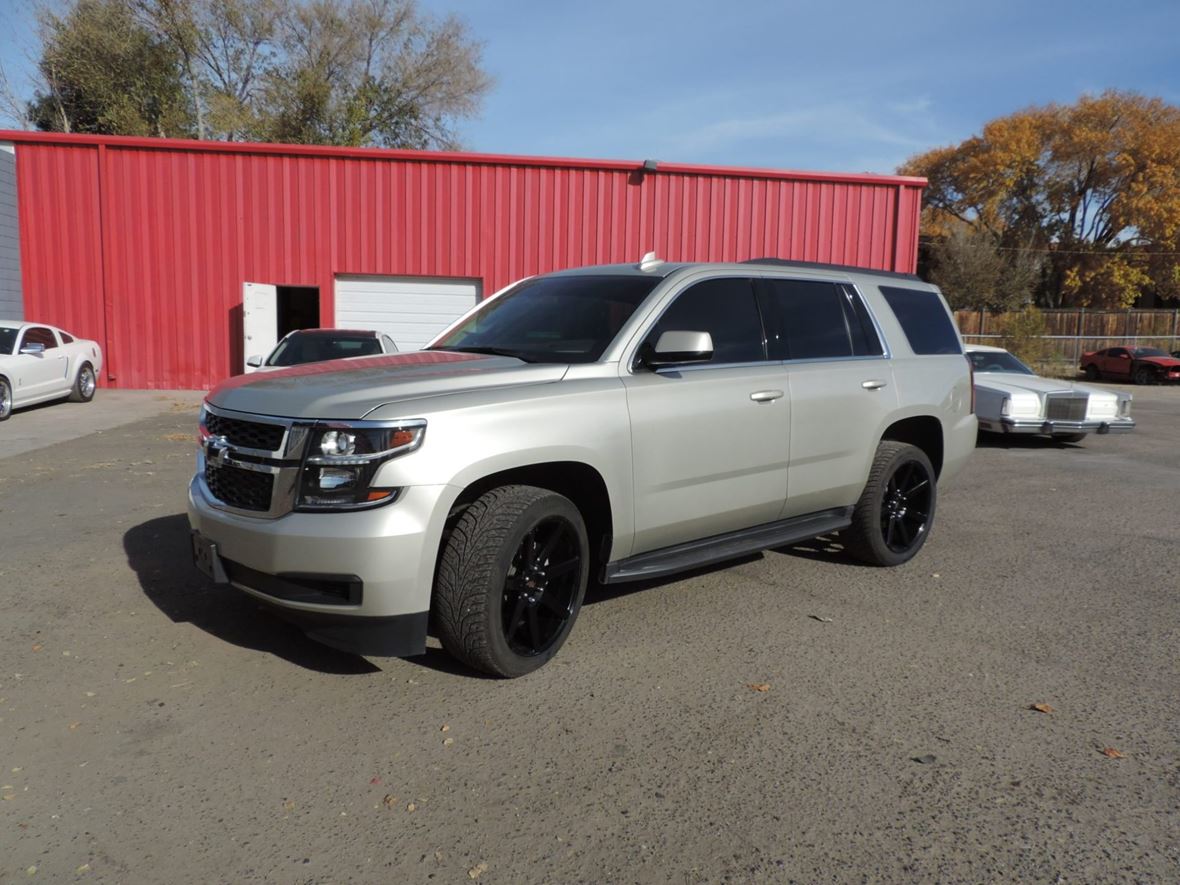
[[[985,441],[900,569],[592,591],[512,682],[209,585],[195,399],[5,457],[0,881],[1178,881],[1180,389],[1134,393]]]

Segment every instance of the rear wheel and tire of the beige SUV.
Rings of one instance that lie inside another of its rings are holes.
[[[845,549],[870,565],[900,565],[922,550],[935,522],[935,468],[917,446],[883,440],[844,531]]]

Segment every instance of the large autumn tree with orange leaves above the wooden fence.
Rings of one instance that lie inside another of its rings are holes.
[[[1040,267],[1032,293],[1042,307],[1122,308],[1145,293],[1180,297],[1175,105],[1108,91],[1030,107],[898,171],[930,179],[922,228],[938,244],[936,277],[939,245],[945,276],[955,263],[948,250],[983,243],[1001,268]],[[971,293],[948,294],[972,302]],[[994,300],[1004,302],[1004,293]]]

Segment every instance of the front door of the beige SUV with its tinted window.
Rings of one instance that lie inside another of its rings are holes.
[[[754,282],[689,284],[644,335],[708,332],[709,362],[623,374],[631,420],[634,553],[774,522],[787,492],[791,402],[767,358]]]

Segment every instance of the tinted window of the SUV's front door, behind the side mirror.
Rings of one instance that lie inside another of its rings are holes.
[[[686,289],[656,322],[647,345],[655,347],[666,332],[708,332],[714,363],[766,359],[752,280],[706,280]]]

